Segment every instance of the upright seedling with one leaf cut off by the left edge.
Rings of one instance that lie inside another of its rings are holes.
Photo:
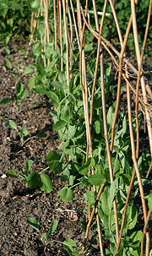
[[[19,104],[24,102],[29,94],[28,90],[24,90],[24,85],[22,83],[16,84],[16,92],[14,94],[14,103],[16,106],[16,111],[18,112]],[[10,103],[10,98],[3,98],[0,102],[1,105],[8,105]]]

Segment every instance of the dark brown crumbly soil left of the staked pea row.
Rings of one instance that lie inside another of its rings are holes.
[[[30,75],[22,74],[24,68],[32,63],[30,57],[26,57],[27,47],[27,43],[20,41],[15,41],[9,46],[10,57],[14,57],[13,71],[19,74],[24,88],[27,88]],[[0,52],[0,101],[4,97],[12,99],[8,106],[0,108],[0,255],[45,255],[41,236],[26,223],[28,217],[33,217],[41,223],[41,232],[48,231],[53,220],[59,221],[51,240],[63,242],[71,238],[80,250],[84,241],[81,221],[86,221],[83,193],[76,188],[73,201],[63,203],[57,198],[57,193],[64,187],[64,183],[61,182],[60,175],[55,176],[48,170],[45,173],[52,178],[52,193],[43,193],[38,188],[25,188],[19,180],[6,176],[10,169],[24,172],[27,160],[34,162],[31,172],[41,172],[47,167],[46,155],[50,150],[57,150],[60,141],[57,139],[57,133],[52,131],[52,117],[49,114],[52,104],[46,101],[44,96],[35,95],[30,91],[27,100],[19,106],[19,112],[16,112],[13,101],[16,78],[4,67],[7,57],[3,47]],[[17,66],[21,63],[23,64],[18,71]],[[42,130],[47,131],[48,138],[30,139],[22,146],[16,131],[5,127],[9,119],[16,123],[19,130],[27,128],[29,135],[26,139]],[[51,242],[47,246],[47,256],[68,255],[59,242]],[[100,255],[96,232],[90,231],[87,245],[84,255]]]

